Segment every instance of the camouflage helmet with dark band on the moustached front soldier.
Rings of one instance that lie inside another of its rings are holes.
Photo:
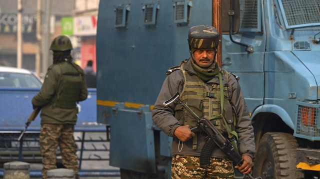
[[[193,26],[189,29],[188,44],[190,52],[195,49],[216,49],[219,44],[219,33],[210,25]]]

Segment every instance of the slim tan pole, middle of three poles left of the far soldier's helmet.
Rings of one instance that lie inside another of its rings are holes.
[[[37,0],[36,3],[36,54],[35,54],[35,73],[40,76],[41,71],[41,17],[42,17],[42,11],[41,11],[41,0]]]

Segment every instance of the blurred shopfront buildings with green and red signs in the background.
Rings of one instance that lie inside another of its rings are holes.
[[[64,34],[72,41],[74,61],[84,68],[92,60],[95,70],[98,4],[99,0],[0,0],[0,65],[43,76],[52,64],[51,40]]]

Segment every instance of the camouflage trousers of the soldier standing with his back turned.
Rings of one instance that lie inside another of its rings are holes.
[[[73,170],[75,179],[79,179],[73,131],[74,125],[41,125],[39,143],[42,156],[41,172],[43,179],[47,179],[46,173],[48,170],[56,169],[56,150],[58,146],[63,166],[69,170]]]

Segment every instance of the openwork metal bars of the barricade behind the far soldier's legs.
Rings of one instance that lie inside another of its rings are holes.
[[[74,139],[78,156],[79,175],[82,177],[119,177],[119,169],[109,167],[109,126],[105,128],[75,128]],[[21,131],[0,131],[0,177],[3,177],[3,164],[12,161],[41,164],[39,133],[26,131],[23,138],[17,141]],[[63,168],[61,154],[57,148],[57,167]],[[85,165],[86,161],[107,164],[95,166]],[[83,167],[83,165],[85,167]],[[41,169],[30,168],[30,177],[41,177]]]

